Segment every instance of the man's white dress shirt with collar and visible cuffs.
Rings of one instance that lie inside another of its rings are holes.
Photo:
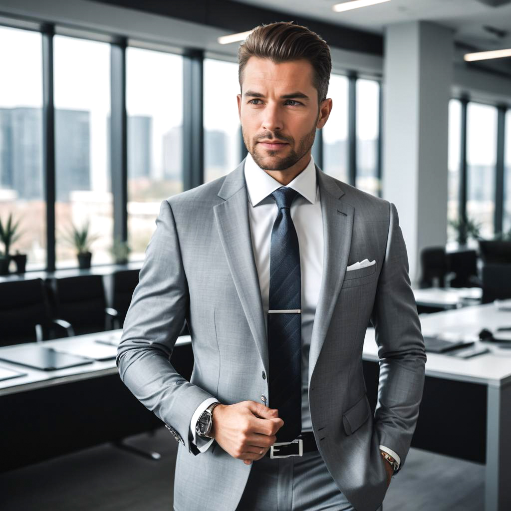
[[[282,184],[253,160],[250,153],[245,159],[245,182],[247,185],[249,210],[249,223],[252,237],[252,248],[255,266],[259,276],[259,286],[263,300],[265,323],[267,322],[268,301],[270,289],[270,242],[271,230],[277,217],[278,208],[271,193]],[[301,171],[288,185],[299,195],[291,204],[291,218],[296,229],[300,250],[301,272],[301,431],[312,431],[311,414],[309,410],[309,348],[311,344],[312,326],[316,305],[319,298],[319,287],[323,274],[323,220],[321,216],[321,200],[316,182],[316,168],[314,158],[307,167]],[[196,409],[190,422],[194,444],[201,452],[205,452],[213,443],[213,438],[207,439],[197,436],[195,425],[200,414],[212,403],[218,402],[215,398],[208,398]],[[380,446],[388,452],[398,463],[399,456],[391,449]]]

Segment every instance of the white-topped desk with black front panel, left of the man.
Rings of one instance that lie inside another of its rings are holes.
[[[95,339],[118,342],[121,334],[122,330],[114,330],[43,341],[42,345],[82,350]],[[190,377],[193,367],[190,347],[189,336],[179,338],[171,357],[184,377]],[[3,360],[0,366],[27,373],[0,381],[0,472],[105,442],[121,442],[163,425],[121,381],[114,359],[55,371]],[[169,440],[174,442],[170,434]]]

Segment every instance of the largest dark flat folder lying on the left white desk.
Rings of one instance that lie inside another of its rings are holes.
[[[77,355],[68,355],[67,353],[59,353],[53,348],[36,346],[34,344],[19,344],[17,346],[3,347],[0,350],[0,360],[34,367],[35,369],[42,369],[44,371],[92,363],[91,359]]]

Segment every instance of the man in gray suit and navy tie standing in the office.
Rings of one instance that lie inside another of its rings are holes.
[[[120,375],[180,444],[177,511],[375,511],[405,461],[426,360],[398,213],[314,164],[332,109],[326,42],[292,23],[260,26],[239,66],[249,154],[162,201]],[[190,382],[169,362],[185,319]]]

